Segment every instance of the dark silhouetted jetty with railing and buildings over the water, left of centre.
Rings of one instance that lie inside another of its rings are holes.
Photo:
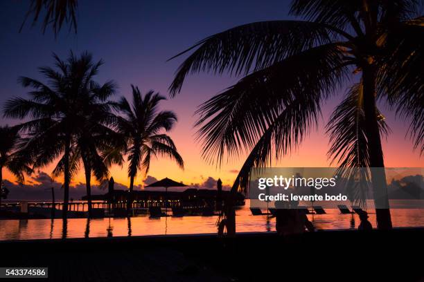
[[[127,216],[127,190],[113,190],[102,195],[91,195],[94,217]],[[184,191],[132,191],[131,215],[148,214],[151,207],[177,208],[185,210],[186,214],[202,214],[202,209],[215,209],[220,199],[227,197],[229,191],[211,189],[188,188]],[[245,196],[235,195],[236,205],[245,205]],[[22,213],[22,205],[25,212]],[[87,196],[81,200],[73,200],[68,205],[69,218],[87,217]],[[62,216],[62,202],[35,202],[35,201],[3,201],[0,207],[0,218],[60,218]]]

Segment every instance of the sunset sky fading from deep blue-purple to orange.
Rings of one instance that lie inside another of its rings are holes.
[[[43,35],[40,26],[26,25],[19,31],[28,1],[0,1],[0,104],[11,97],[25,97],[28,89],[17,84],[19,76],[42,79],[39,66],[52,66],[54,52],[64,58],[69,50],[82,53],[87,50],[94,59],[103,59],[96,81],[103,83],[114,79],[120,96],[130,98],[130,84],[142,91],[154,89],[168,97],[168,86],[184,57],[166,62],[168,58],[190,47],[195,42],[216,32],[240,24],[276,19],[290,19],[290,1],[79,1],[78,33],[68,32],[65,27],[57,38],[50,30]],[[200,156],[201,146],[195,141],[197,106],[224,88],[237,82],[237,77],[193,75],[186,79],[182,92],[161,104],[162,109],[177,113],[178,123],[170,132],[185,162],[184,171],[170,160],[152,160],[148,173],[150,179],[164,177],[183,181],[188,185],[206,187],[206,183],[221,178],[224,185],[231,185],[244,160],[240,158],[224,162],[221,167],[206,163]],[[343,91],[323,106],[322,118],[317,131],[312,131],[299,149],[290,153],[279,163],[280,167],[327,167],[328,136],[324,124],[342,100]],[[423,167],[424,160],[413,151],[412,141],[405,138],[407,120],[396,118],[393,111],[380,105],[391,135],[383,140],[387,167]],[[18,120],[1,119],[0,124],[17,124]],[[48,175],[53,164],[29,176],[26,185],[39,185],[40,173]],[[13,182],[8,171],[3,175]],[[127,168],[112,167],[111,175],[116,182],[129,185]],[[42,174],[44,176],[44,174]],[[139,174],[136,185],[143,187],[146,176]],[[73,179],[77,187],[84,182],[82,173]]]

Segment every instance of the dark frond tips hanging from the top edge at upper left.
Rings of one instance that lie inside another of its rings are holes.
[[[31,0],[28,12],[26,12],[24,22],[19,29],[21,32],[22,28],[26,23],[28,17],[33,15],[33,23],[39,20],[39,17],[43,15],[42,32],[46,32],[46,28],[51,26],[53,32],[58,35],[63,23],[70,23],[69,30],[77,32],[77,8],[78,0]]]

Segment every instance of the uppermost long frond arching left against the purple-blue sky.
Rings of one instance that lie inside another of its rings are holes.
[[[181,90],[188,74],[229,71],[246,75],[308,48],[328,44],[331,32],[327,26],[309,21],[260,21],[206,37],[171,58],[196,49],[179,66],[169,87],[170,95]]]

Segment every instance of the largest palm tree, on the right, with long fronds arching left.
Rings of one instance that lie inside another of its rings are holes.
[[[201,114],[197,126],[202,126],[198,136],[204,140],[204,158],[220,164],[224,154],[231,158],[242,148],[250,150],[233,185],[243,190],[251,167],[265,167],[295,149],[317,125],[321,102],[360,80],[364,118],[360,134],[332,140],[329,154],[339,164],[352,164],[345,159],[351,155],[340,155],[339,150],[365,137],[360,150],[351,151],[360,154],[355,159],[362,158],[357,164],[382,168],[378,99],[411,119],[415,147],[424,150],[424,46],[416,40],[424,35],[424,18],[416,15],[418,6],[416,0],[294,0],[290,14],[304,20],[237,26],[179,53],[193,51],[179,67],[170,95],[181,91],[191,73],[245,75],[197,112]],[[338,135],[339,126],[334,123],[343,120],[333,118],[332,134]],[[389,229],[384,170],[371,169],[370,173],[378,194],[374,196],[376,207],[386,207],[376,209],[378,228]]]

